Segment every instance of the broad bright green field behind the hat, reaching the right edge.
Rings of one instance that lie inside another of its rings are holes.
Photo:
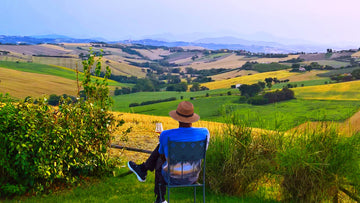
[[[216,96],[198,98],[191,102],[202,120],[223,122],[224,114],[237,111],[249,126],[271,130],[288,130],[306,121],[341,122],[360,109],[358,101],[296,99],[263,106],[240,104],[238,101],[239,96]],[[113,110],[168,116],[169,111],[176,109],[180,100],[121,109],[119,102],[120,100],[115,101]]]

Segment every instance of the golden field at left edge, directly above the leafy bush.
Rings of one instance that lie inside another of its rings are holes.
[[[0,91],[12,97],[41,97],[50,94],[76,95],[76,81],[37,73],[0,68]]]

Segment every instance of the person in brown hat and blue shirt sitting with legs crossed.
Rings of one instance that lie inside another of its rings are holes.
[[[160,134],[160,143],[151,153],[149,158],[140,165],[133,161],[128,162],[129,169],[135,173],[140,182],[145,182],[147,171],[155,170],[155,188],[156,203],[166,203],[164,195],[166,193],[166,183],[164,177],[167,177],[168,164],[166,157],[168,155],[168,139],[171,141],[193,142],[207,139],[209,143],[210,134],[206,128],[192,127],[192,123],[198,121],[200,116],[194,113],[194,106],[188,101],[179,103],[176,110],[170,111],[169,115],[179,122],[179,128],[165,130]],[[181,176],[181,167],[170,166],[171,182],[175,184],[192,184],[195,183],[199,177],[201,170],[201,160],[183,164],[183,176]],[[159,186],[161,183],[161,186]],[[160,193],[161,191],[161,193]],[[161,194],[161,195],[160,195]]]

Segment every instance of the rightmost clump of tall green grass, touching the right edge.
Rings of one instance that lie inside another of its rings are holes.
[[[276,163],[285,199],[331,200],[340,188],[360,183],[360,134],[344,137],[337,125],[322,123],[294,133],[278,147]]]

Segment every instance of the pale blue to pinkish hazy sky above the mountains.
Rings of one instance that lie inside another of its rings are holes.
[[[0,35],[123,40],[265,32],[360,46],[360,0],[0,0],[0,6]]]

